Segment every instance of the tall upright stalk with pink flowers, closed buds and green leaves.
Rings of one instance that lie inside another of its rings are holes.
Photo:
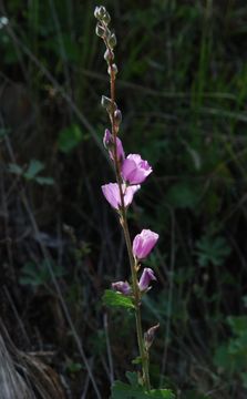
[[[132,243],[127,223],[127,208],[133,202],[135,193],[141,188],[141,184],[145,182],[153,170],[147,161],[142,160],[140,154],[130,154],[125,156],[122,141],[117,136],[122,113],[115,102],[117,66],[114,62],[114,48],[116,45],[116,37],[109,28],[111,17],[104,7],[96,7],[94,16],[97,19],[96,34],[103,39],[106,48],[104,59],[107,63],[107,73],[110,75],[111,85],[111,98],[103,95],[101,101],[111,121],[111,130],[105,130],[103,144],[109,151],[109,156],[113,162],[116,178],[115,183],[102,185],[102,192],[109,204],[120,216],[120,224],[124,232],[131,268],[130,282],[112,283],[112,289],[106,290],[104,294],[104,301],[110,306],[123,306],[134,310],[140,352],[138,358],[142,367],[141,377],[135,386],[136,396],[132,388],[127,388],[126,385],[119,381],[115,382],[112,388],[112,398],[120,398],[120,392],[124,390],[126,395],[121,396],[121,398],[130,398],[130,396],[127,396],[127,392],[130,392],[131,398],[155,397],[171,399],[173,397],[171,391],[166,389],[152,389],[150,381],[148,350],[158,325],[151,327],[143,334],[141,318],[142,297],[151,289],[151,282],[156,280],[154,270],[151,268],[144,268],[141,276],[138,276],[142,268],[141,262],[146,258],[154,248],[158,239],[158,234],[150,229],[143,229],[134,237]],[[133,378],[131,380],[132,385]]]

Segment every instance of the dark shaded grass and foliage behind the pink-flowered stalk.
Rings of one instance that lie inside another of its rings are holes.
[[[84,355],[102,398],[136,355],[133,317],[101,303],[128,265],[101,193],[114,174],[95,6],[0,1],[1,318],[19,349],[52,351],[71,398],[95,397]],[[182,399],[245,398],[246,1],[103,6],[121,139],[154,168],[130,209],[132,236],[161,236],[145,264],[158,276],[143,305],[145,328],[161,324],[152,382],[162,374]]]

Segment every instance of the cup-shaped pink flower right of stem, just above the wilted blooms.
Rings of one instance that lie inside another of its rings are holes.
[[[133,254],[136,258],[145,258],[155,246],[158,239],[158,234],[143,229],[141,234],[137,234],[133,241]]]

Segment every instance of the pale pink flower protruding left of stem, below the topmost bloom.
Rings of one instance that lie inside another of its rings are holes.
[[[119,209],[121,206],[121,196],[120,196],[120,187],[117,183],[109,183],[101,186],[102,192],[110,203],[112,207]],[[140,185],[126,186],[122,184],[123,196],[124,196],[124,206],[128,206],[132,203],[133,196],[137,190],[140,190]]]

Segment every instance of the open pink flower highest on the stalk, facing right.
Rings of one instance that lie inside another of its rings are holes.
[[[122,165],[122,176],[130,184],[140,184],[153,172],[147,161],[138,154],[130,154]]]

